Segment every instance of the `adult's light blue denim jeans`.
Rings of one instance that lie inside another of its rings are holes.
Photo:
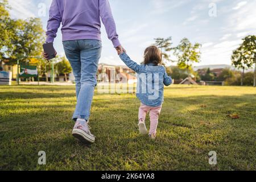
[[[100,40],[69,40],[63,42],[65,55],[71,64],[76,82],[76,110],[72,119],[89,120],[94,89],[97,85]]]

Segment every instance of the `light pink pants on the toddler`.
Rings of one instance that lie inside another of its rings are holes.
[[[151,107],[144,104],[141,104],[141,107],[139,107],[139,120],[145,121],[146,114],[149,112],[150,115],[150,131],[149,134],[155,134],[156,128],[158,127],[158,118],[160,111],[162,109],[162,105],[158,107]]]

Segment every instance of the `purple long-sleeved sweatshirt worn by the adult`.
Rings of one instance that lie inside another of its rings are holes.
[[[53,42],[62,23],[63,41],[101,40],[101,21],[114,47],[120,46],[108,0],[52,0],[47,24],[47,42]]]

